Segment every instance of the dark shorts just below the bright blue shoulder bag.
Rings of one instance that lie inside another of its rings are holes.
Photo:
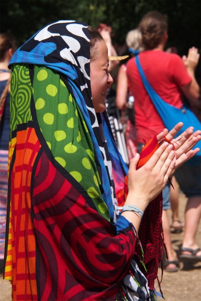
[[[192,158],[182,164],[174,176],[187,198],[201,196],[201,159]]]

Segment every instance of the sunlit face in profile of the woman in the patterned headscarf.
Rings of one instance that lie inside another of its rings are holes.
[[[97,41],[94,46],[93,57],[90,61],[91,94],[96,113],[106,109],[107,90],[113,84],[113,78],[108,72],[108,48],[104,41]]]

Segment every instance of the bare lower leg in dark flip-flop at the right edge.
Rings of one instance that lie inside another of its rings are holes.
[[[184,238],[182,247],[196,249],[198,245],[195,242],[197,228],[201,218],[201,197],[188,198],[185,208],[185,226]],[[189,254],[187,251],[182,251],[182,254]],[[201,251],[196,253],[196,256],[201,256]]]

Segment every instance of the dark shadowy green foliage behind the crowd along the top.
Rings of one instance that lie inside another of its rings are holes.
[[[169,42],[179,54],[200,49],[200,0],[1,0],[1,32],[12,33],[18,45],[57,20],[78,20],[92,27],[108,23],[114,43],[124,44],[129,30],[151,10],[168,16]]]

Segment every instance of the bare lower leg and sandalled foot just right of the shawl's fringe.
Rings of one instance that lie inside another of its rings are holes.
[[[178,260],[177,255],[176,255],[176,252],[173,250],[172,243],[171,243],[170,224],[169,224],[169,219],[168,219],[168,215],[167,215],[167,210],[163,210],[162,223],[163,223],[164,241],[165,241],[167,253],[168,253],[168,261],[177,261]],[[170,263],[166,267],[166,270],[167,269],[172,270],[175,268],[176,268],[176,265],[174,263]]]

